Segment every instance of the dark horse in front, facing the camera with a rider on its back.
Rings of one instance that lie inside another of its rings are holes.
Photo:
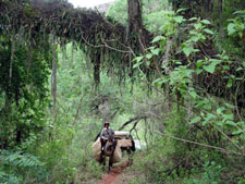
[[[113,155],[114,155],[114,150],[115,150],[117,145],[118,145],[118,140],[114,139],[113,135],[110,135],[108,137],[107,143],[106,143],[103,151],[101,152],[101,160],[100,161],[101,161],[101,163],[103,163],[103,165],[106,165],[106,157],[109,157],[108,173],[110,173],[111,167],[113,164]]]

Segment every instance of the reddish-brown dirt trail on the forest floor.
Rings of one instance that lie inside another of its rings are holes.
[[[124,161],[120,165],[112,167],[110,174],[105,174],[103,177],[98,181],[98,184],[126,184],[122,181],[121,174],[123,170],[130,165],[130,161]]]

